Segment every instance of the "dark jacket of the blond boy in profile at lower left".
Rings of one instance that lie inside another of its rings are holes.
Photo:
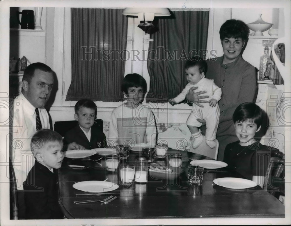
[[[58,174],[35,160],[23,183],[25,219],[63,219],[58,204]]]

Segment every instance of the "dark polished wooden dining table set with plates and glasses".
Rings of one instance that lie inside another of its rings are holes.
[[[147,183],[133,182],[122,185],[119,172],[105,169],[104,157],[95,163],[88,159],[64,158],[58,170],[59,203],[68,219],[100,218],[284,218],[284,205],[259,186],[231,189],[213,183],[216,178],[241,177],[235,172],[219,168],[204,170],[202,184],[190,184],[187,166],[191,159],[208,159],[187,151],[177,151],[183,156],[181,173],[176,178],[163,179],[149,172]],[[128,163],[133,163],[138,152],[131,151]],[[91,156],[97,159],[101,156]],[[164,159],[158,159],[161,163]],[[68,165],[83,165],[85,169]],[[97,194],[73,188],[80,181],[107,179],[119,185],[116,190]],[[81,196],[76,196],[84,194]],[[86,195],[87,194],[87,195]],[[108,204],[101,202],[74,204],[77,200],[117,198]]]

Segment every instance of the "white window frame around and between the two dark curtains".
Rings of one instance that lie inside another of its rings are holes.
[[[184,8],[170,8],[170,10],[185,10]],[[206,9],[187,9],[187,10],[209,10],[210,15],[209,19],[213,18],[213,8]],[[65,8],[64,10],[64,59],[63,59],[63,87],[62,87],[62,106],[64,107],[73,107],[77,103],[77,101],[65,101],[66,95],[68,93],[68,89],[71,84],[71,22],[70,22],[70,8]],[[137,27],[139,24],[138,18],[136,17],[128,17],[128,27],[127,27],[127,50],[129,53],[135,55],[134,60],[128,60],[125,63],[125,75],[129,73],[138,73],[143,76],[147,82],[148,88],[150,87],[150,76],[148,74],[147,69],[147,57],[143,59],[144,52],[147,55],[150,35],[145,34],[140,28]],[[209,23],[208,28],[208,38],[207,40],[207,49],[212,49],[213,46],[213,23]],[[210,47],[210,48],[209,48]],[[138,53],[138,54],[137,54]],[[136,55],[137,54],[137,55]],[[208,56],[207,56],[208,57]],[[139,60],[142,59],[142,60]],[[125,76],[124,75],[124,76]],[[182,91],[182,90],[181,90]],[[147,95],[147,94],[146,94]],[[124,102],[103,102],[103,101],[95,101],[95,104],[103,110],[113,109],[118,107]],[[174,113],[176,110],[189,110],[191,106],[187,104],[179,104],[179,105],[170,105],[169,103],[151,103],[147,104],[145,101],[143,104],[148,105],[151,109],[161,109],[164,113],[171,112]]]

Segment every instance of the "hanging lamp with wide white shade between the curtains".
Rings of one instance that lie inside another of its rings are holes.
[[[152,21],[156,17],[170,16],[168,8],[125,8],[123,15],[138,16],[140,24],[137,26],[141,28],[145,34],[155,27]]]

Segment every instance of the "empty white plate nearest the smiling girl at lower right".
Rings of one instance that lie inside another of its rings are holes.
[[[257,186],[255,181],[236,178],[236,177],[222,177],[213,180],[213,183],[225,187],[225,188],[232,188],[232,189],[244,189],[244,188],[253,188]]]

